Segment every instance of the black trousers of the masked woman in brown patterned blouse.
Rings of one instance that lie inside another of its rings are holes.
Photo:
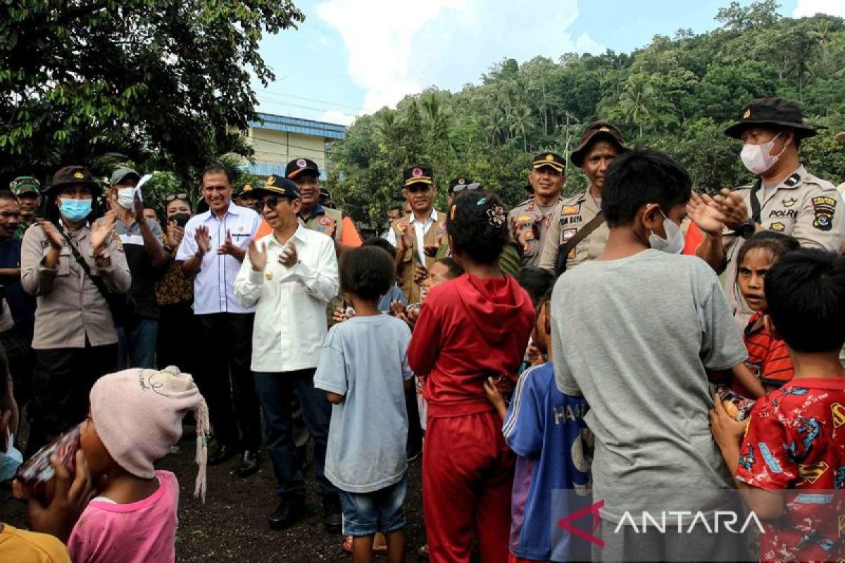
[[[202,353],[199,341],[199,322],[190,303],[162,305],[159,314],[158,348],[155,363],[163,370],[176,365],[179,371],[199,373]]]

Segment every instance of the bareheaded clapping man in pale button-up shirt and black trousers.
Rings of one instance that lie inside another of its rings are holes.
[[[208,346],[199,351],[202,373],[197,378],[217,442],[208,464],[219,465],[240,452],[236,473],[248,477],[258,471],[261,445],[259,402],[249,369],[255,308],[237,302],[234,283],[261,218],[232,203],[232,176],[221,165],[203,172],[203,197],[209,210],[188,220],[176,261],[195,276],[194,314]]]

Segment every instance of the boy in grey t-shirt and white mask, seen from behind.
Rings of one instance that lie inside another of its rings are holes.
[[[650,553],[645,534],[613,532],[626,512],[637,522],[644,511],[711,514],[726,507],[718,490],[732,486],[709,433],[707,372],[729,371],[747,353],[715,273],[678,256],[689,200],[690,177],[665,154],[614,159],[602,190],[607,246],[553,292],[555,380],[590,404],[602,560]],[[668,532],[662,541],[665,560],[733,556],[715,535]]]

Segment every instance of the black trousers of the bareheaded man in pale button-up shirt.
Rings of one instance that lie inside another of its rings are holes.
[[[249,369],[255,316],[214,313],[196,317],[202,346],[194,349],[194,355],[199,355],[203,366],[197,384],[209,405],[217,445],[257,450],[261,445],[259,399]]]

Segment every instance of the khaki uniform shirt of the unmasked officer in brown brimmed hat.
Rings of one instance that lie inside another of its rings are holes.
[[[548,238],[542,246],[540,268],[554,273],[559,246],[575,236],[575,233],[595,218],[599,211],[601,209],[592,198],[590,188],[587,188],[586,192],[564,199],[554,212],[552,225],[549,225]],[[572,249],[566,261],[566,268],[574,268],[604,252],[604,246],[608,244],[608,234],[608,224],[599,225]]]

